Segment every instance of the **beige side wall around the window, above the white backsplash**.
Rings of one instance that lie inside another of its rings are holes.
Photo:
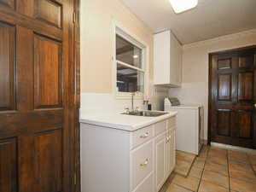
[[[112,93],[113,22],[148,44],[150,69],[153,34],[119,0],[81,1],[81,92]],[[150,70],[152,77],[152,70]]]

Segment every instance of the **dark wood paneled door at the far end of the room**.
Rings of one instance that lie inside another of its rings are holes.
[[[210,87],[211,141],[256,148],[256,49],[212,54]]]

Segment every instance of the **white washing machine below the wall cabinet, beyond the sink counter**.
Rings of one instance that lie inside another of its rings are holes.
[[[198,155],[203,144],[203,107],[201,105],[172,106],[165,100],[165,111],[177,111],[176,149]]]

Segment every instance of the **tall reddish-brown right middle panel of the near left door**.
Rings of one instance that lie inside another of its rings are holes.
[[[61,43],[35,35],[34,53],[35,108],[61,108]]]

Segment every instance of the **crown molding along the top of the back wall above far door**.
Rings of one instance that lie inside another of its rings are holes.
[[[218,42],[224,41],[224,40],[232,40],[232,39],[247,37],[247,36],[251,36],[251,35],[256,35],[256,29],[251,29],[251,30],[247,30],[244,32],[237,32],[237,33],[233,33],[230,35],[224,35],[224,36],[220,36],[218,38],[211,38],[211,39],[207,39],[204,41],[195,42],[192,44],[184,44],[183,49],[201,47],[201,46],[204,46],[207,44],[214,44],[214,43],[218,43]]]

